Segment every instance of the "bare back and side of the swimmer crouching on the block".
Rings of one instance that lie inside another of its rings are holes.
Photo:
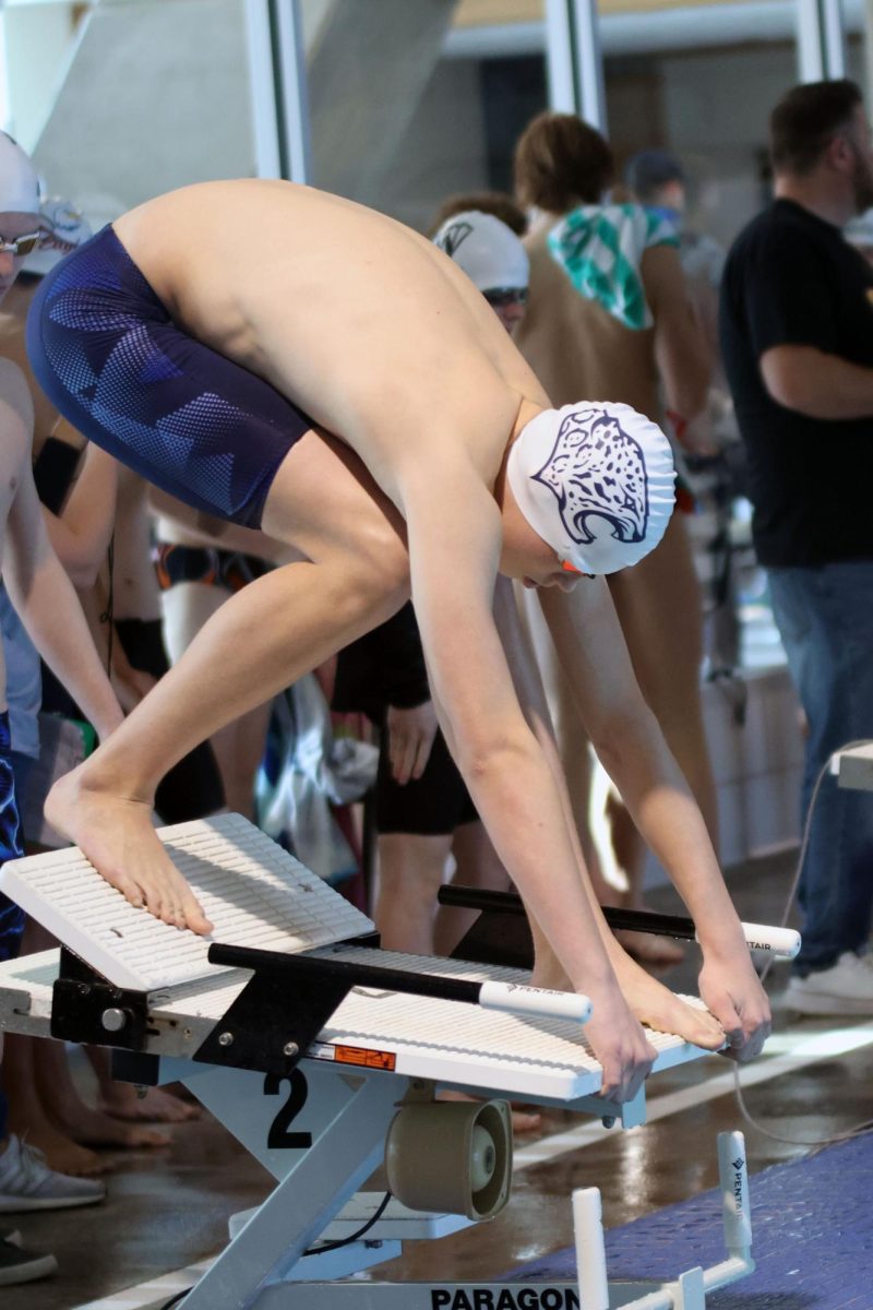
[[[437,414],[446,434],[471,410],[487,414],[505,445],[518,397],[541,398],[452,261],[351,200],[291,182],[207,182],[147,202],[115,231],[183,328],[370,466],[389,428],[415,440],[437,430]],[[483,434],[483,466],[503,455],[488,445]]]

